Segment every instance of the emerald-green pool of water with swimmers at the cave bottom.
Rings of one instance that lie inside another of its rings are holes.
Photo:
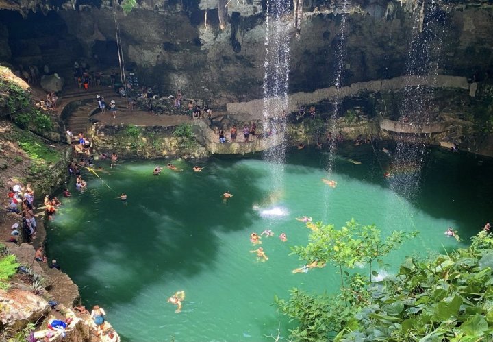
[[[479,159],[431,150],[414,203],[390,190],[392,179],[383,172],[391,160],[375,156],[370,145],[339,149],[331,175],[327,152],[290,151],[284,186],[274,192],[272,167],[260,155],[173,160],[184,171],[164,169],[160,176],[152,170],[168,160],[114,169],[101,164],[105,183],[86,173],[88,191],[77,193],[71,180],[74,196],[49,224],[48,253],[79,285],[84,304],[105,308],[127,341],[267,341],[277,334],[274,295],[288,297],[292,287],[330,292],[339,285],[333,267],[291,273],[303,263],[289,256],[290,246],[307,243],[309,233],[295,217],[338,227],[354,217],[384,232],[419,230],[417,239],[388,256],[385,271],[392,273],[407,255],[461,245],[444,236],[448,226],[467,241],[490,219],[493,163]],[[194,164],[203,172],[194,173]],[[321,178],[336,180],[336,188]],[[223,203],[226,190],[234,197]],[[116,199],[122,192],[127,202]],[[262,239],[269,260],[259,262],[249,253],[258,247],[249,235],[266,228],[275,237]],[[281,232],[286,243],[277,237]],[[186,300],[175,313],[166,299],[179,290]],[[287,328],[281,317],[283,336]]]

